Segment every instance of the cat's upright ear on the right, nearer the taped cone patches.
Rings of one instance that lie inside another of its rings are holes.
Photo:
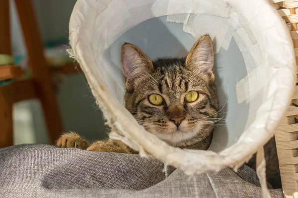
[[[213,75],[214,52],[210,36],[202,36],[189,51],[185,65],[193,70]]]

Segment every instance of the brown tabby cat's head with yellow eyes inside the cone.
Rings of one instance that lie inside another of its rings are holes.
[[[201,37],[181,59],[150,61],[141,49],[125,44],[121,64],[126,108],[169,145],[207,149],[219,107],[213,58],[209,36]]]

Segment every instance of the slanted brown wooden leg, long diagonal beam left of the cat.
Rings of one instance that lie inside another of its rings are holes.
[[[15,5],[32,67],[36,94],[43,107],[51,143],[54,144],[63,132],[63,127],[34,9],[31,0],[15,0]]]

